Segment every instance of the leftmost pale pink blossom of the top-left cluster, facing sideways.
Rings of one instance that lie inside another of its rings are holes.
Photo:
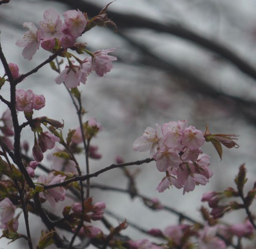
[[[32,22],[24,22],[23,27],[29,30],[17,41],[16,45],[24,47],[22,55],[25,59],[31,60],[39,48],[41,38],[38,35],[38,29]]]

